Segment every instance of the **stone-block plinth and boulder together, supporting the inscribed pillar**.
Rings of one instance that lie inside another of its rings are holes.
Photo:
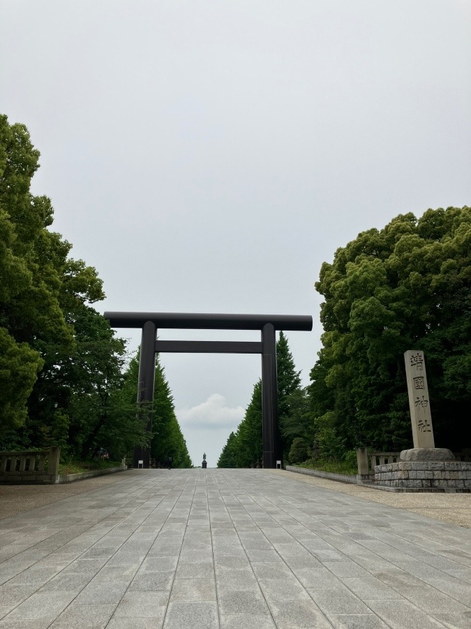
[[[397,463],[375,466],[375,485],[399,491],[470,492],[471,463],[454,461],[444,448],[403,450]]]

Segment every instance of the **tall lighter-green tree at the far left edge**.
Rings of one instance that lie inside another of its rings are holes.
[[[47,263],[38,256],[52,215],[48,200],[29,192],[38,157],[26,127],[10,125],[7,117],[0,115],[0,431],[3,432],[23,424],[27,399],[43,366],[40,352],[29,343],[31,338],[47,335],[54,326],[59,335],[67,335],[65,321],[54,301],[55,278],[47,273]]]

